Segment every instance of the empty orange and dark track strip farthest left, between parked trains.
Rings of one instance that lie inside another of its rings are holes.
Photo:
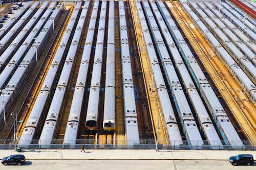
[[[70,9],[72,10],[72,9]],[[52,39],[52,43],[47,46],[47,49],[49,49],[48,51],[46,51],[46,54],[41,54],[42,56],[45,56],[43,58],[40,58],[42,61],[40,61],[40,59],[38,60],[38,63],[42,63],[40,68],[37,70],[36,72],[37,74],[35,76],[30,76],[30,77],[35,77],[32,81],[27,81],[28,82],[32,82],[32,85],[29,88],[29,92],[27,92],[26,94],[26,98],[22,104],[21,107],[19,107],[18,110],[18,114],[17,114],[17,119],[22,119],[22,123],[18,126],[18,137],[21,135],[23,128],[26,125],[27,122],[27,118],[29,117],[29,113],[31,111],[31,109],[33,108],[33,104],[36,100],[36,97],[38,95],[38,92],[40,90],[40,87],[42,85],[42,82],[44,82],[44,78],[47,74],[47,70],[50,66],[51,60],[53,59],[53,53],[55,51],[55,49],[57,48],[57,44],[54,42],[58,42],[58,39],[60,38],[60,36],[63,33],[63,23],[67,22],[67,20],[65,18],[69,18],[69,12],[70,10],[68,10],[66,13],[63,13],[60,19],[60,22],[57,23],[56,28],[57,32],[55,32],[54,36]],[[61,30],[62,29],[62,30]],[[61,31],[60,31],[61,30]],[[47,57],[49,56],[49,57]],[[31,83],[30,83],[31,84]],[[25,85],[26,86],[26,85]],[[11,121],[13,122],[12,118]],[[8,134],[6,135],[6,139],[13,139],[13,128],[11,127],[11,129],[9,130]]]

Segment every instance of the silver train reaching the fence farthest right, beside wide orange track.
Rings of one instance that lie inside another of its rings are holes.
[[[196,87],[199,90],[200,96],[202,97],[205,105],[207,106],[208,111],[212,116],[212,119],[214,120],[214,123],[216,124],[218,131],[220,132],[222,138],[224,139],[225,144],[230,144],[234,146],[239,145],[241,147],[243,145],[242,140],[240,139],[233,125],[230,123],[230,120],[227,114],[225,113],[220,101],[218,100],[216,94],[210,87],[206,77],[204,76],[197,61],[195,60],[194,55],[191,53],[188,45],[186,44],[186,41],[184,40],[180,31],[178,30],[176,23],[174,22],[174,20],[172,19],[167,10],[162,10],[166,8],[164,3],[162,1],[156,2],[159,7],[159,11],[163,16],[163,19],[165,20],[167,28],[169,32],[172,34],[174,41],[179,48],[184,63],[186,64],[192,78],[194,79]],[[182,6],[186,5],[184,2],[181,2],[181,4]],[[183,8],[189,7],[186,6]],[[191,9],[185,11],[189,13]]]

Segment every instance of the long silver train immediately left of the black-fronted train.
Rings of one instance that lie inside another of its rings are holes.
[[[89,3],[87,1],[86,3]],[[75,91],[71,103],[68,123],[65,131],[63,144],[76,144],[78,128],[80,123],[80,114],[83,104],[84,92],[86,91],[86,81],[88,75],[89,61],[92,50],[92,42],[95,31],[99,1],[94,1],[93,11],[90,18],[89,30],[87,32],[86,43],[83,48],[81,63],[78,71]]]

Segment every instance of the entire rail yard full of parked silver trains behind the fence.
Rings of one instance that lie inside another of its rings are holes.
[[[0,147],[255,150],[240,3],[23,3],[0,29]]]

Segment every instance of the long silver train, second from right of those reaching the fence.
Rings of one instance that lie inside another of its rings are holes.
[[[208,143],[205,143],[205,141],[204,141],[204,144],[210,144],[212,146],[213,145],[217,145],[217,146],[222,145],[221,140],[218,136],[218,133],[217,133],[214,125],[212,124],[211,119],[207,113],[207,110],[206,110],[206,108],[200,98],[200,95],[196,89],[196,85],[194,84],[193,80],[190,78],[189,72],[179,54],[178,48],[176,47],[172,36],[167,31],[168,29],[167,29],[165,22],[161,16],[160,11],[158,10],[158,8],[156,6],[156,3],[154,1],[150,1],[150,4],[151,4],[153,12],[157,18],[156,20],[158,21],[159,28],[162,31],[163,37],[165,39],[165,43],[168,46],[168,50],[169,50],[170,54],[172,55],[172,59],[175,63],[174,67],[176,68],[177,72],[179,73],[179,76],[182,80],[183,87],[185,87],[185,91],[188,96],[189,102],[193,106],[196,116],[199,120],[200,130],[203,132],[206,140],[208,141]],[[161,9],[162,9],[163,13],[168,12],[164,6],[162,6]],[[168,63],[164,63],[164,65],[168,65]],[[166,69],[166,71],[167,71],[167,69]],[[174,79],[174,77],[172,79]],[[176,78],[176,80],[177,81],[175,81],[175,79],[174,79],[172,82],[168,81],[168,83],[174,87],[175,86],[181,87],[181,84],[179,83],[179,79]],[[181,96],[177,95],[177,99],[179,99],[179,98],[181,98]]]

